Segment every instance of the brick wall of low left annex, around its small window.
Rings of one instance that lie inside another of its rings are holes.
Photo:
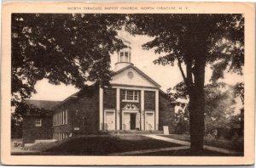
[[[35,126],[36,119],[42,120],[42,126]],[[52,139],[52,115],[26,115],[22,123],[23,143],[34,143],[37,139]]]

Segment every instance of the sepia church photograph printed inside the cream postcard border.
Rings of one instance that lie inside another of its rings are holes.
[[[11,13],[10,156],[245,156],[245,14],[68,9]]]

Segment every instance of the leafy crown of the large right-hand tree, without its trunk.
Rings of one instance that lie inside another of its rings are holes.
[[[242,74],[244,64],[244,18],[242,14],[131,14],[126,30],[154,40],[144,49],[162,53],[155,64],[191,64],[204,57],[212,66],[212,81],[224,70]],[[182,70],[184,81],[187,78]]]

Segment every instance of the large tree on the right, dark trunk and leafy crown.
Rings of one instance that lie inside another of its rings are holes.
[[[154,37],[143,48],[165,54],[155,64],[177,63],[189,95],[190,149],[200,154],[205,127],[205,68],[211,64],[212,81],[223,78],[224,70],[242,74],[242,14],[131,14],[126,31]]]

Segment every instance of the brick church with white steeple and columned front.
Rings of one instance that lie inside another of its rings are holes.
[[[174,106],[160,84],[131,63],[131,44],[119,51],[111,87],[93,84],[56,105],[53,138],[97,132],[174,129]]]

